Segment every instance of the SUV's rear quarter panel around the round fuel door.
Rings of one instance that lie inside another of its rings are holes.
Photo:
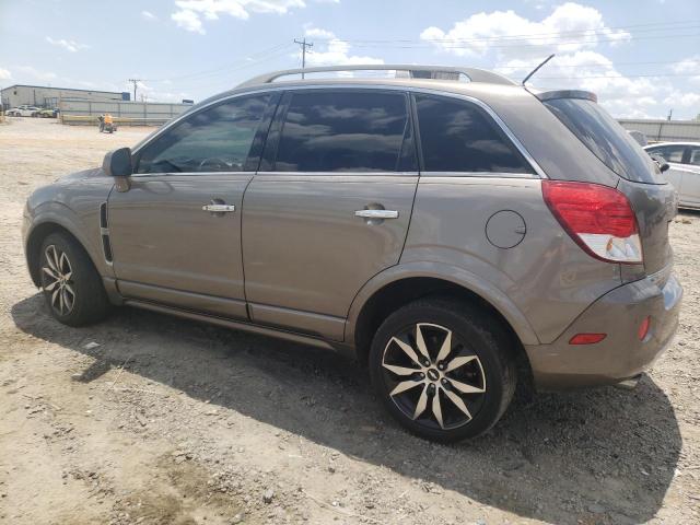
[[[517,212],[526,223],[523,241],[508,249],[486,235],[487,221],[501,210]],[[588,256],[560,226],[538,178],[421,177],[400,264],[416,261],[465,268],[494,285],[540,342],[555,340],[621,284],[619,265]]]

